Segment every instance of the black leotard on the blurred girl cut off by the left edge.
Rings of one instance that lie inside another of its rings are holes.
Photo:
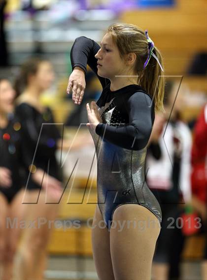
[[[23,187],[20,130],[20,124],[13,114],[9,116],[7,126],[0,128],[0,167],[10,170],[12,180],[10,187],[0,186],[0,192],[5,195],[9,203]]]

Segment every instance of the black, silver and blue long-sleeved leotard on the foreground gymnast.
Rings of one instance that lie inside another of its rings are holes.
[[[95,54],[100,46],[84,36],[76,38],[70,59],[72,68],[86,71],[88,64],[97,74]],[[161,222],[160,205],[145,182],[146,145],[154,122],[154,104],[138,85],[110,91],[110,81],[97,74],[103,92],[97,101],[103,123],[90,131],[97,154],[98,205],[106,226],[114,210],[123,204],[139,204]]]

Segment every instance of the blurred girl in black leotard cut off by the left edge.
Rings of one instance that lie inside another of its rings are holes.
[[[15,91],[0,79],[0,280],[12,278],[13,261],[20,236],[18,219],[23,193],[20,156],[21,126],[13,115]],[[17,224],[10,227],[13,220]],[[8,221],[10,221],[8,223]]]

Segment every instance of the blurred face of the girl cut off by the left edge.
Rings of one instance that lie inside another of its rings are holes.
[[[8,80],[0,81],[0,112],[8,114],[13,111],[16,92]]]

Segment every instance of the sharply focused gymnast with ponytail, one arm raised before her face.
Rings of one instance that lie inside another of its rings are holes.
[[[87,63],[103,86],[97,103],[87,104],[97,152],[92,243],[98,277],[149,280],[162,215],[145,183],[144,162],[154,110],[163,109],[162,57],[147,31],[121,23],[107,29],[101,48],[78,37],[71,63],[67,91],[75,104],[83,98]]]

